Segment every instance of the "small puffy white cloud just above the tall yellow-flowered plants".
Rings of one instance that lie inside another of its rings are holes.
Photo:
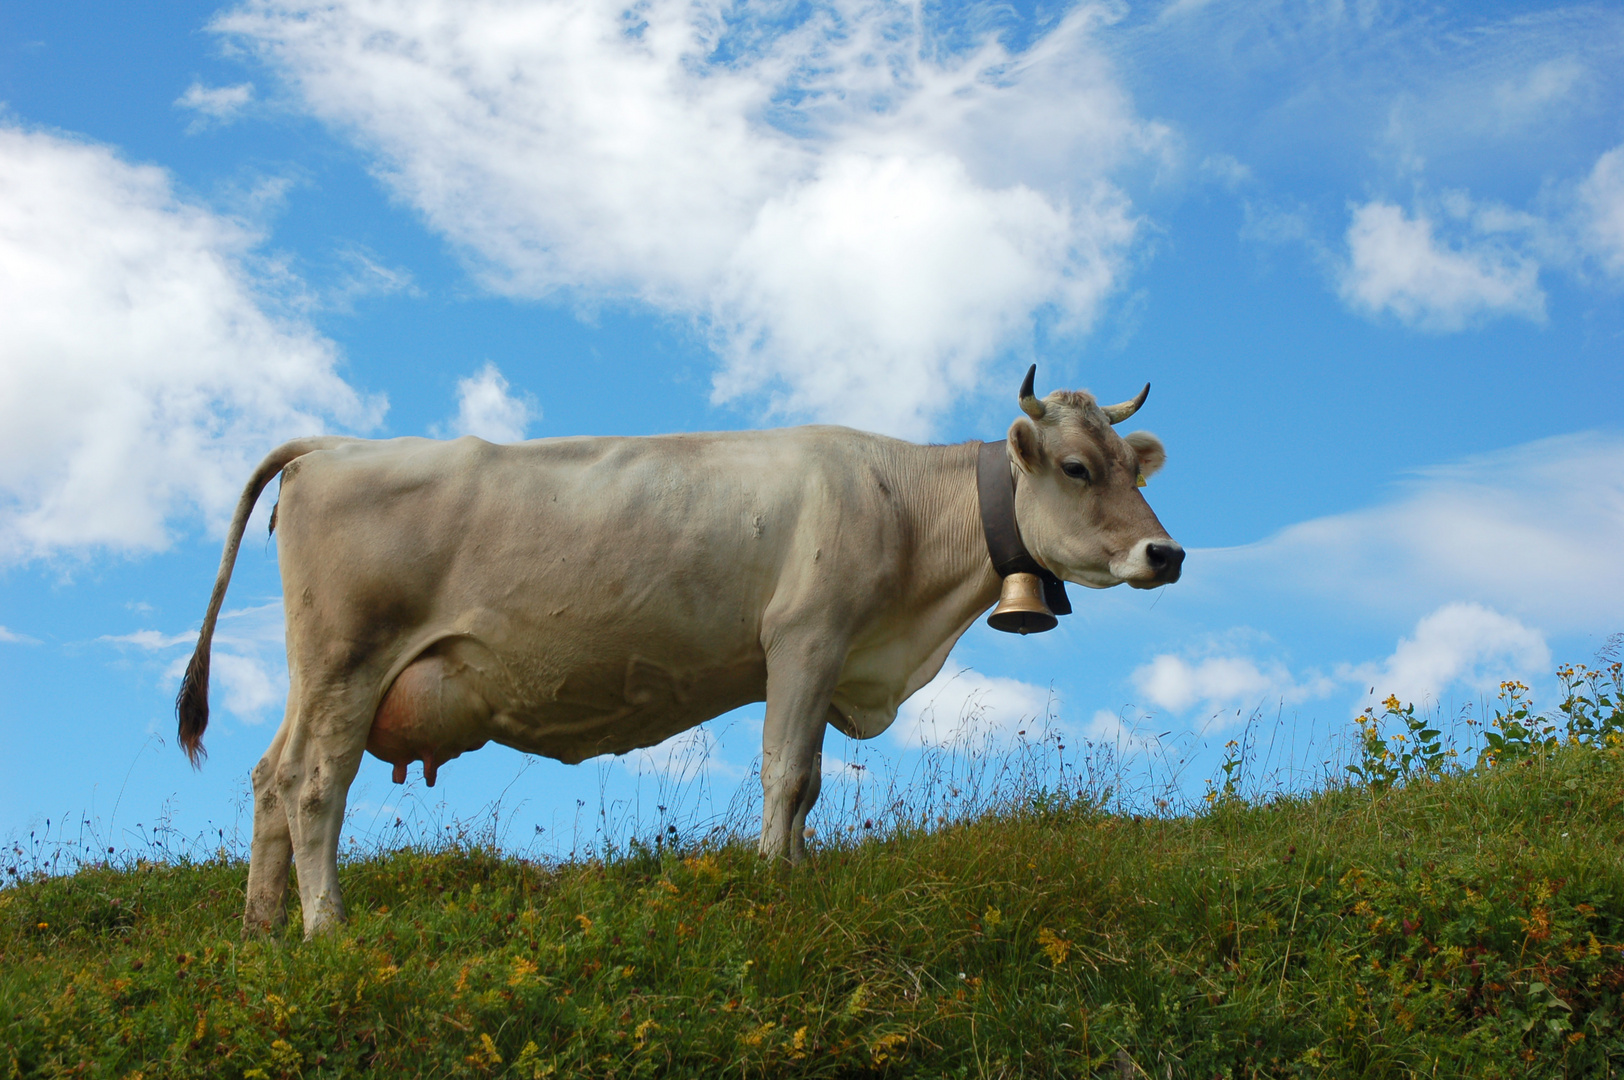
[[[1419,705],[1437,703],[1455,684],[1488,692],[1504,679],[1531,682],[1549,669],[1543,633],[1483,604],[1455,603],[1423,617],[1385,661],[1346,677],[1369,684],[1377,697],[1393,693]]]

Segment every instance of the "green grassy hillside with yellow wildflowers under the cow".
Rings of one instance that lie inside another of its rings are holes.
[[[1551,721],[1512,687],[1470,771],[1393,703],[1356,783],[1199,815],[1030,791],[794,870],[378,853],[315,942],[240,939],[239,861],[24,882],[0,1075],[1614,1075],[1624,716],[1588,685]]]

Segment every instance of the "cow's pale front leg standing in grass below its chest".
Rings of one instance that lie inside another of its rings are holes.
[[[768,663],[767,726],[762,732],[762,858],[806,858],[807,812],[823,770],[823,726],[840,677],[817,650]]]

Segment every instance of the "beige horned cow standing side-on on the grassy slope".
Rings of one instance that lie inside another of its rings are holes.
[[[1184,549],[1138,490],[1166,453],[1112,429],[1150,387],[1101,408],[1031,380],[1002,443],[1031,559],[1090,588],[1176,581]],[[489,741],[573,763],[763,700],[760,853],[799,862],[825,726],[879,736],[999,596],[983,453],[831,426],[278,447],[237,503],[175,700],[197,767],[216,619],[281,474],[287,710],[252,771],[244,931],[286,922],[291,862],[305,937],[343,921],[339,827],[367,752],[432,784]]]

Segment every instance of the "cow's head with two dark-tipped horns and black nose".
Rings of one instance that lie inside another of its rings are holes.
[[[1031,391],[1036,370],[1026,372],[1020,391],[1026,416],[1009,434],[1018,469],[1015,520],[1026,549],[1057,577],[1090,588],[1177,581],[1184,549],[1138,492],[1168,451],[1150,432],[1124,437],[1112,429],[1138,411],[1150,387],[1104,408],[1083,390],[1038,400]]]

